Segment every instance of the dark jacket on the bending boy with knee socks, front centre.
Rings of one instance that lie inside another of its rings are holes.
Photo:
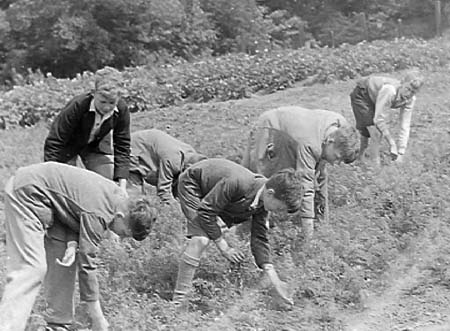
[[[267,179],[225,159],[200,161],[179,178],[180,197],[194,191],[200,194],[197,219],[211,240],[221,236],[216,217],[219,216],[228,227],[251,221],[250,246],[256,264],[262,267],[271,263],[268,239],[268,213],[260,201],[255,201],[258,191]],[[190,188],[184,190],[183,188]],[[184,197],[188,200],[189,197]],[[256,202],[256,205],[254,204]]]

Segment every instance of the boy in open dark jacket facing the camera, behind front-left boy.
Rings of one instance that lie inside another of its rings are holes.
[[[130,163],[130,112],[120,98],[120,73],[110,67],[95,73],[95,90],[74,97],[52,123],[44,161],[84,166],[114,179],[125,189]]]

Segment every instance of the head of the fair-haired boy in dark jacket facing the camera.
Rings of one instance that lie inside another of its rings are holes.
[[[120,72],[105,67],[95,73],[94,103],[96,110],[104,115],[111,112],[120,97]]]

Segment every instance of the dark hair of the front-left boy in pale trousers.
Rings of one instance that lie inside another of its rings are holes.
[[[150,206],[147,199],[132,201],[129,206],[130,228],[133,239],[144,240],[157,219],[156,208]]]

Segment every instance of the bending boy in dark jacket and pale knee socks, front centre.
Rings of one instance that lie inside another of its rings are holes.
[[[178,181],[181,209],[186,216],[189,242],[181,255],[173,301],[187,309],[189,292],[200,257],[213,241],[224,257],[240,262],[242,252],[230,247],[222,236],[218,217],[228,226],[251,222],[251,250],[279,295],[292,304],[287,287],[273,267],[268,240],[267,215],[296,212],[302,189],[298,174],[285,169],[267,179],[225,159],[200,161],[184,171]]]

